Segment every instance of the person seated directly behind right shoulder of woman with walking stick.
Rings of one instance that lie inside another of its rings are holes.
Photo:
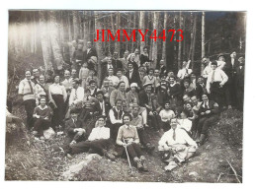
[[[138,138],[140,143],[145,147],[146,151],[152,152],[155,147],[151,145],[149,142],[149,138],[145,133],[144,127],[143,127],[143,119],[142,116],[138,114],[139,112],[139,106],[135,103],[132,105],[131,110],[131,121],[130,125],[133,125],[136,127]]]

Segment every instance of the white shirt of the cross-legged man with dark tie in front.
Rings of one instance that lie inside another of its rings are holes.
[[[176,144],[183,144],[183,145],[190,145],[194,147],[198,147],[197,143],[188,135],[188,133],[177,126],[175,129],[176,139],[173,140],[173,129],[165,132],[161,137],[158,145],[160,148],[169,149],[168,146],[176,145]]]

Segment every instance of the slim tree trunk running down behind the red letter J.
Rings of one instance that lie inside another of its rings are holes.
[[[95,11],[95,30],[102,30],[102,22],[99,20],[99,12]],[[100,39],[102,39],[102,33],[99,34]],[[97,65],[97,73],[98,73],[98,86],[101,86],[101,78],[102,76],[102,67],[101,67],[101,60],[103,59],[103,52],[102,52],[102,45],[103,42],[101,40],[98,40],[95,42],[95,47],[98,53],[98,65]]]

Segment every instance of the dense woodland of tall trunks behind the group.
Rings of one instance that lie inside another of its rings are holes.
[[[123,57],[125,50],[140,51],[149,47],[153,66],[163,59],[167,69],[175,72],[183,60],[192,60],[194,72],[200,73],[201,58],[209,55],[214,59],[218,53],[229,54],[235,50],[245,52],[245,13],[243,12],[180,12],[180,11],[10,11],[9,12],[9,75],[12,75],[13,59],[28,61],[26,67],[41,65],[45,69],[62,69],[70,63],[75,41],[84,42],[96,38],[96,30],[149,30],[145,41],[93,41],[101,64],[109,52],[117,50]],[[177,41],[176,32],[166,33],[166,41],[150,38],[153,30],[157,36],[164,29],[183,30],[184,39]],[[101,35],[101,34],[100,34]],[[105,32],[107,39],[107,32]],[[86,49],[86,43],[84,43]],[[31,58],[37,59],[31,59]],[[23,66],[24,67],[24,66]],[[100,68],[98,68],[100,69]],[[98,73],[100,75],[100,73]]]

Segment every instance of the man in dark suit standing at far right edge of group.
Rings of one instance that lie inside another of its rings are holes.
[[[239,66],[235,69],[234,85],[236,91],[237,108],[243,110],[243,96],[244,96],[244,58],[238,59]]]

